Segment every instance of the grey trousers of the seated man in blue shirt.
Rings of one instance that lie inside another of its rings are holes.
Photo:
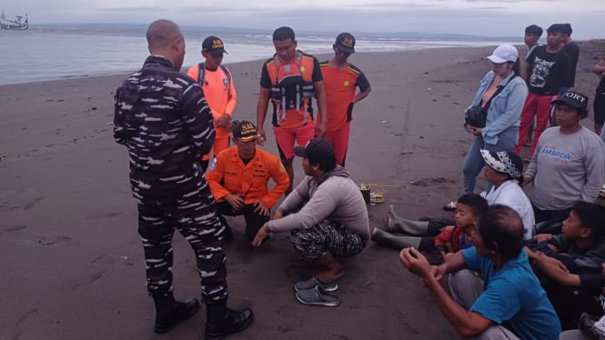
[[[483,293],[483,280],[469,269],[463,269],[449,275],[449,292],[452,298],[466,310],[475,303],[475,300]],[[518,340],[503,325],[492,325],[485,332],[473,337],[478,340]]]

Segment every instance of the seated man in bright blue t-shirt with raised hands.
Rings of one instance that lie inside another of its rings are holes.
[[[559,319],[523,251],[519,215],[506,205],[490,205],[479,216],[473,236],[475,247],[449,256],[443,265],[429,265],[414,248],[403,249],[399,259],[422,278],[441,312],[463,337],[559,338]],[[452,297],[439,284],[448,273],[453,273],[449,277]]]

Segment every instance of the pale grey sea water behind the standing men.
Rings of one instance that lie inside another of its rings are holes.
[[[271,32],[209,32],[203,28],[183,30],[187,52],[185,67],[202,61],[201,42],[217,35],[228,55],[223,63],[262,60],[275,53]],[[388,52],[448,46],[498,45],[494,39],[420,39],[358,36],[358,52]],[[298,48],[310,53],[331,53],[334,36],[298,35]],[[134,72],[148,55],[144,26],[30,26],[26,31],[0,30],[0,84],[109,75]],[[260,67],[260,65],[258,66]]]

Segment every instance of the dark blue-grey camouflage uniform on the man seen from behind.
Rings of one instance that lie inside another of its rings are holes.
[[[154,297],[172,292],[177,229],[196,254],[205,302],[225,301],[225,227],[197,162],[215,139],[201,88],[165,57],[150,55],[117,89],[115,100],[114,136],[130,156],[147,291]]]

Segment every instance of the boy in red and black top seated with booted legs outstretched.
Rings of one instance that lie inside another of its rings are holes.
[[[461,195],[456,204],[455,225],[430,221],[410,221],[388,211],[387,230],[374,228],[372,241],[378,245],[401,250],[415,247],[419,251],[439,250],[445,259],[447,253],[456,253],[473,245],[471,233],[477,218],[488,208],[487,201],[477,194]],[[403,233],[407,235],[393,235]]]

